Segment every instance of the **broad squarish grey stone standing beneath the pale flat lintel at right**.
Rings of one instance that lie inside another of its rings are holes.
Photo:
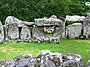
[[[66,29],[66,37],[67,38],[79,38],[81,35],[82,24],[81,23],[74,23],[67,26]]]

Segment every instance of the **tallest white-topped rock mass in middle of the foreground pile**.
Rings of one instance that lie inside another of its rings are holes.
[[[62,66],[62,63],[63,63],[61,53],[52,53],[48,50],[41,51],[39,54],[39,58],[41,59],[40,62],[42,63],[42,65],[45,64],[45,66],[48,66],[48,64],[50,63],[49,65],[51,67],[53,66],[59,67],[59,66]]]

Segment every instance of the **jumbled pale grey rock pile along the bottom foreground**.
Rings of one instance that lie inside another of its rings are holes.
[[[78,54],[52,53],[42,50],[37,57],[31,54],[15,57],[13,60],[0,61],[0,67],[84,67]]]

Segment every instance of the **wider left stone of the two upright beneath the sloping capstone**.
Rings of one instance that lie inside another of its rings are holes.
[[[19,38],[19,30],[17,24],[9,24],[8,25],[8,34],[9,39],[18,39]]]

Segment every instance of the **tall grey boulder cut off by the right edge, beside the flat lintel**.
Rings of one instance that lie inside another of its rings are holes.
[[[83,35],[90,39],[90,16],[87,16],[83,21]]]

